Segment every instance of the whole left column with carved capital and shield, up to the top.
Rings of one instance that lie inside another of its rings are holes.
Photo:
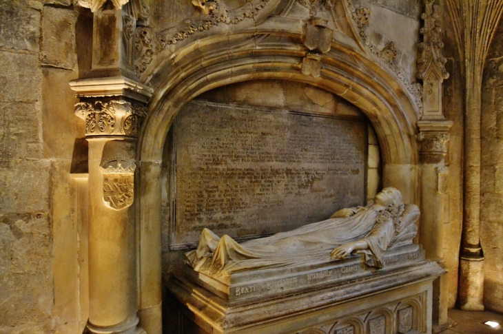
[[[126,6],[125,3],[127,3]],[[138,0],[79,1],[94,12],[92,70],[70,82],[89,143],[90,333],[146,333],[138,324],[136,145],[152,89],[133,70]]]

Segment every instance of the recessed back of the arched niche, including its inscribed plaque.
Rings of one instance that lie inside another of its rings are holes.
[[[292,81],[201,94],[181,108],[164,152],[163,252],[194,248],[203,228],[240,241],[326,220],[371,202],[382,174],[365,114]]]

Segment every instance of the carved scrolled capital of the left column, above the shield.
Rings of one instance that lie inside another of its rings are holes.
[[[123,100],[79,102],[75,114],[85,121],[87,136],[138,136],[147,108]]]

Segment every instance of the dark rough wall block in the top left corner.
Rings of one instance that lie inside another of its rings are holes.
[[[39,50],[39,11],[28,0],[0,2],[0,48],[37,52]]]

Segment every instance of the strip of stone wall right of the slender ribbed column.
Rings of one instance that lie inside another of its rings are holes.
[[[484,306],[503,312],[503,26],[484,68],[482,84],[482,204],[480,243],[484,251]]]

